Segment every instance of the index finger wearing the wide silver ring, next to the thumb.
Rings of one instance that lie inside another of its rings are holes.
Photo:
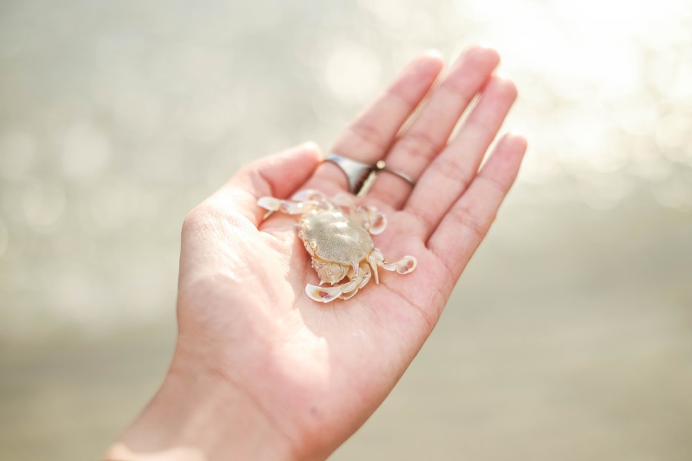
[[[381,160],[401,126],[430,91],[443,64],[434,52],[410,62],[375,102],[356,117],[331,151],[365,164]],[[352,192],[344,172],[332,162],[320,165],[309,187],[327,193],[338,190]]]

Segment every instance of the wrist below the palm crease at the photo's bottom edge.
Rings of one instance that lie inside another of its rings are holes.
[[[290,460],[290,441],[246,395],[214,375],[171,367],[107,461]]]

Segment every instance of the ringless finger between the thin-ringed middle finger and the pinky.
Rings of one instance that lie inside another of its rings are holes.
[[[516,95],[516,86],[511,80],[491,77],[455,138],[424,171],[404,207],[423,224],[423,241],[428,239],[477,174]]]

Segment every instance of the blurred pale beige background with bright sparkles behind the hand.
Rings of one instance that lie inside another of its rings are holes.
[[[331,459],[692,459],[691,29],[688,0],[0,0],[0,458],[98,459],[171,357],[187,211],[480,42],[520,178]]]

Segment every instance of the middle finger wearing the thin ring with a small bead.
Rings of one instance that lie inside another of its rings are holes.
[[[399,135],[385,158],[387,168],[418,180],[432,159],[444,149],[459,117],[499,62],[497,51],[491,48],[475,46],[466,50],[430,93],[412,124]],[[384,171],[368,195],[399,208],[410,191],[411,186],[405,180]]]

